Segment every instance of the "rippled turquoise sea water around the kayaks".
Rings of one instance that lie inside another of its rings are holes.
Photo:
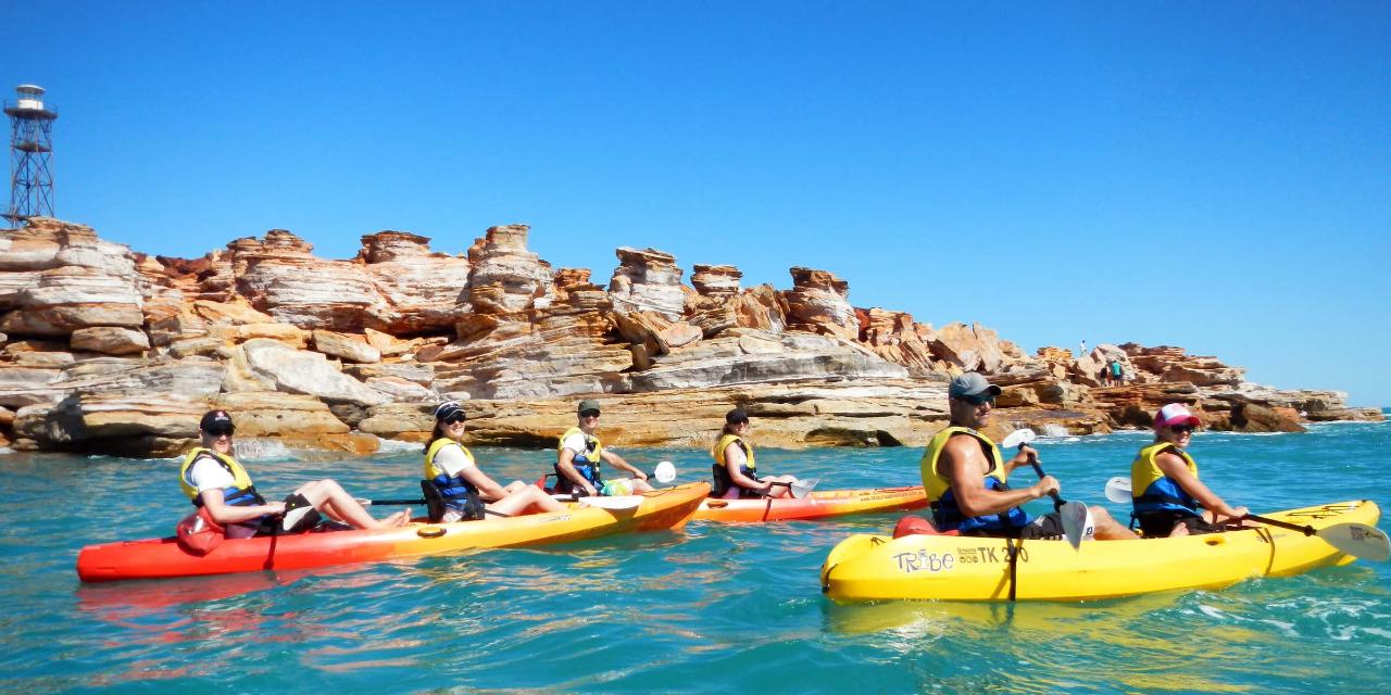
[[[1064,496],[1124,517],[1102,486],[1145,441],[1038,446]],[[1257,512],[1353,498],[1385,506],[1387,450],[1387,424],[1199,434],[1192,446],[1203,480]],[[495,477],[523,480],[549,457],[474,453]],[[708,471],[702,452],[625,455],[673,460],[680,480]],[[768,450],[758,460],[829,489],[917,482],[919,455]],[[271,493],[328,475],[377,498],[409,495],[419,466],[417,449],[250,463]],[[171,531],[188,510],[175,471],[163,460],[0,457],[0,691],[1312,692],[1391,681],[1388,564],[1081,605],[823,599],[826,552],[847,534],[886,531],[897,514],[691,523],[548,549],[81,585],[81,546]]]

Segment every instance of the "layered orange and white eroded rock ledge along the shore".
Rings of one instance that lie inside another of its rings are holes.
[[[696,264],[686,285],[672,254],[622,247],[601,286],[529,252],[529,232],[494,227],[449,254],[383,231],[323,260],[284,229],[202,259],[51,218],[0,231],[0,446],[172,456],[218,406],[241,435],[369,453],[380,436],[423,439],[445,398],[467,402],[476,442],[551,446],[591,395],[626,446],[705,446],[733,404],[766,446],[921,446],[963,371],[1004,386],[1002,431],[1145,427],[1174,400],[1214,430],[1381,418],[1182,348],[1024,354],[979,324],[854,307],[825,270],[793,267],[775,289]],[[1099,379],[1113,359],[1125,385]]]

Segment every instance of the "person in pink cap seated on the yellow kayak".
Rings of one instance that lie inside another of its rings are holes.
[[[1146,538],[1213,534],[1223,531],[1219,514],[1246,514],[1246,507],[1227,505],[1198,480],[1198,463],[1187,449],[1200,423],[1182,403],[1159,409],[1155,443],[1141,449],[1131,463],[1131,516]]]

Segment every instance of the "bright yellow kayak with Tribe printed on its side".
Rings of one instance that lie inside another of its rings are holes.
[[[1334,532],[1376,525],[1372,500],[1292,509],[1267,517]],[[1356,532],[1356,531],[1355,531]],[[1373,530],[1373,532],[1378,532]],[[1380,542],[1384,541],[1384,534]],[[1018,548],[1010,563],[1010,549]],[[1156,591],[1206,589],[1249,577],[1284,577],[1355,560],[1319,535],[1259,527],[1139,541],[1007,541],[957,535],[853,535],[821,567],[822,591],[837,602],[1091,600]]]

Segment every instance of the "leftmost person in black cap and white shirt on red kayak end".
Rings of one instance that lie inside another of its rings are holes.
[[[232,457],[232,416],[210,410],[198,424],[202,446],[184,456],[179,488],[196,507],[204,507],[227,538],[275,535],[313,528],[323,513],[353,528],[385,528],[410,521],[410,512],[398,512],[385,520],[373,518],[341,485],[331,480],[306,482],[285,498],[266,502],[256,492],[250,475]]]

